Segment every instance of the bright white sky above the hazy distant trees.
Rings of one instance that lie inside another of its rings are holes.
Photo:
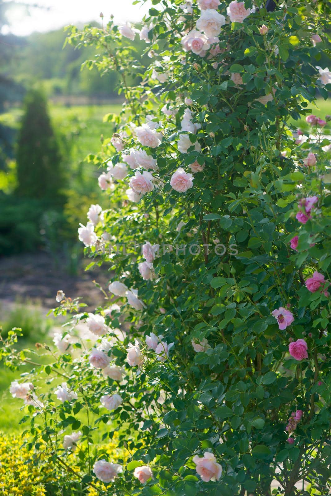
[[[8,1],[8,0],[4,0]],[[92,20],[100,21],[100,12],[107,22],[113,14],[116,24],[130,21],[138,22],[150,8],[148,1],[144,5],[132,5],[132,0],[23,0],[28,5],[37,4],[44,8],[31,7],[30,15],[26,16],[17,6],[8,11],[10,27],[4,27],[3,34],[11,32],[25,36],[34,31],[46,32],[58,29],[67,24],[77,24]]]

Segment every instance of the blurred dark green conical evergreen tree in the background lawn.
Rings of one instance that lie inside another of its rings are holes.
[[[17,143],[17,193],[58,203],[62,187],[61,159],[44,95],[30,90]]]

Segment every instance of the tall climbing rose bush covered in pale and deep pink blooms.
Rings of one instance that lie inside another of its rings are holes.
[[[137,28],[71,28],[125,97],[89,156],[105,207],[78,229],[110,285],[94,314],[59,292],[72,318],[57,351],[37,346],[46,366],[9,335],[5,363],[34,367],[12,391],[55,467],[84,446],[86,491],[327,495],[330,131],[312,108],[330,5],[152,3],[147,69]],[[127,459],[105,452],[114,434]]]

